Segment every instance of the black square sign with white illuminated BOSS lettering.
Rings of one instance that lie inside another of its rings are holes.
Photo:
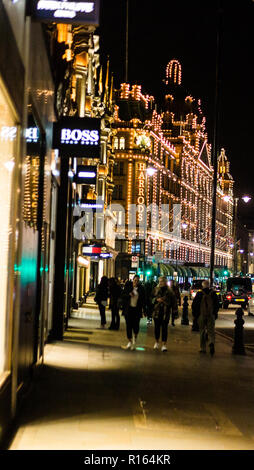
[[[62,117],[54,123],[53,148],[62,157],[100,158],[100,119]]]

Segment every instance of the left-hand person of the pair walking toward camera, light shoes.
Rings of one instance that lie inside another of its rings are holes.
[[[135,349],[139,333],[139,323],[145,306],[145,291],[136,275],[127,281],[122,294],[123,315],[126,321],[128,343],[125,349]]]

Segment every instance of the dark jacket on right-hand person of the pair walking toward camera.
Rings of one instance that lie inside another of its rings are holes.
[[[163,302],[158,302],[159,298],[162,298]],[[155,288],[153,304],[153,318],[162,316],[163,320],[169,320],[170,314],[177,311],[176,296],[168,286]]]

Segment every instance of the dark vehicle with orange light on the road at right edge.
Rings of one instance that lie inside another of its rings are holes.
[[[249,308],[252,299],[252,283],[249,277],[230,277],[227,279],[223,308],[227,309],[230,304]]]

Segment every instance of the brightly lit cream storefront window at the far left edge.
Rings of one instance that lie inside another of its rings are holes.
[[[17,126],[7,93],[0,80],[0,375],[8,370],[7,364],[7,326],[10,319],[12,298],[12,235],[13,235],[13,174],[15,169],[15,151]],[[8,333],[9,328],[8,328]]]

